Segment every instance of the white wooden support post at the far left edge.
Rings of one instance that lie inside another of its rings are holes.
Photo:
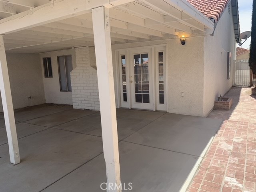
[[[0,90],[4,110],[4,121],[9,145],[10,162],[12,164],[18,164],[20,163],[20,153],[16,133],[14,111],[12,106],[10,80],[7,68],[6,54],[4,49],[4,39],[2,35],[0,35]]]

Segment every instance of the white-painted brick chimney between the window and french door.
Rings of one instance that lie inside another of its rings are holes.
[[[100,110],[94,47],[76,48],[76,68],[70,75],[73,108]]]

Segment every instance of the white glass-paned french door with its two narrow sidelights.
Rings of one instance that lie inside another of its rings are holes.
[[[166,111],[165,47],[118,52],[120,104]]]

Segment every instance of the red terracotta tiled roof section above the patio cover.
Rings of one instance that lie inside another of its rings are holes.
[[[206,17],[219,20],[230,0],[187,0]]]

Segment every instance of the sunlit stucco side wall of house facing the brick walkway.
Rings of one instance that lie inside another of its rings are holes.
[[[210,33],[210,32],[209,32]],[[231,52],[231,75],[227,80],[227,52]],[[236,43],[232,12],[228,8],[220,18],[214,36],[204,38],[204,116],[214,106],[214,100],[232,87]]]

